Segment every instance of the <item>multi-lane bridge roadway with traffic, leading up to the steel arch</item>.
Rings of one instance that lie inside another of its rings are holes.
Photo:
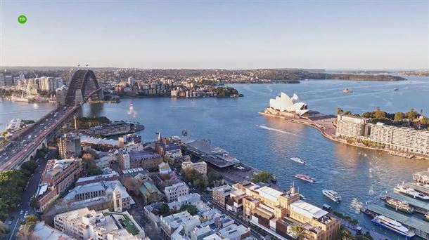
[[[18,168],[32,153],[49,139],[80,106],[58,107],[39,119],[29,129],[11,139],[11,144],[0,149],[0,171]],[[46,145],[47,147],[47,145]]]

